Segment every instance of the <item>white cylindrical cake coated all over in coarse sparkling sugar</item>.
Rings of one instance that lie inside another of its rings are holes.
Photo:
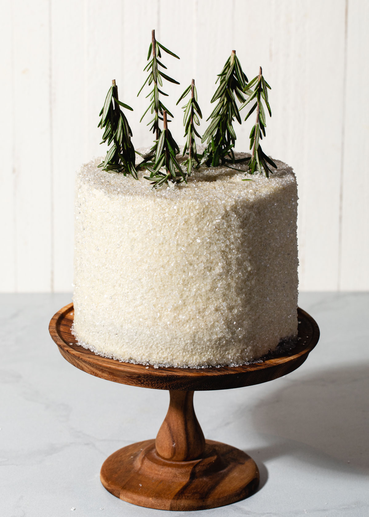
[[[245,156],[245,155],[239,155]],[[202,168],[188,185],[97,168],[76,177],[78,342],[155,366],[236,366],[297,336],[297,185]]]

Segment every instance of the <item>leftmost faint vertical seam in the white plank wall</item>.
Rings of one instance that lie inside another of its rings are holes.
[[[16,119],[15,114],[15,103],[14,103],[14,88],[16,86],[14,69],[14,4],[10,3],[11,9],[11,33],[10,33],[10,58],[11,58],[11,106],[12,106],[12,145],[11,145],[11,173],[13,179],[13,206],[12,206],[12,226],[13,226],[13,260],[14,260],[14,293],[18,293],[18,249],[17,249],[17,169],[16,169],[16,127],[14,120]]]

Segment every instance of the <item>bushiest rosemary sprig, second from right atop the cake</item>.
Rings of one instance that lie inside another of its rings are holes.
[[[210,117],[209,127],[205,131],[202,142],[207,143],[207,147],[202,156],[201,162],[208,166],[216,167],[224,164],[226,156],[235,163],[233,147],[235,146],[236,133],[233,129],[233,121],[236,118],[241,124],[241,117],[236,104],[236,97],[240,102],[244,102],[243,90],[248,79],[243,73],[241,64],[233,50],[230,57],[226,60],[223,70],[218,75],[219,87],[213,95],[211,102],[219,99]]]

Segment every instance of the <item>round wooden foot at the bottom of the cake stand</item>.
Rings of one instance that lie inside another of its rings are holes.
[[[164,460],[155,440],[146,440],[109,456],[100,479],[106,490],[134,505],[158,510],[205,510],[253,494],[259,472],[250,456],[212,440],[206,440],[202,457],[191,461]]]

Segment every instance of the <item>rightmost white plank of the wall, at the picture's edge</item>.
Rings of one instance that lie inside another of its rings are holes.
[[[368,288],[369,240],[369,4],[349,4],[340,224],[342,290]],[[353,231],[353,227],[357,227]]]

